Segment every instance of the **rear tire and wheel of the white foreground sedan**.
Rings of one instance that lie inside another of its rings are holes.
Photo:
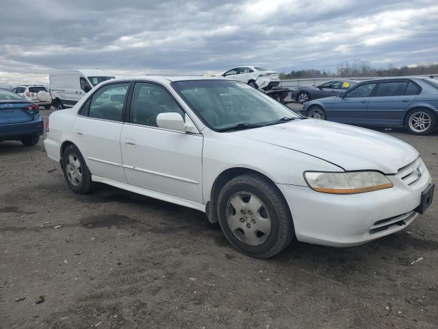
[[[61,159],[64,178],[71,191],[86,194],[94,191],[96,184],[91,180],[91,173],[76,145],[68,145]]]

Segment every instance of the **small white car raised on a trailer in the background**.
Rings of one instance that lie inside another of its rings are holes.
[[[239,66],[225,73],[222,77],[242,81],[253,88],[270,90],[272,87],[279,86],[279,73],[263,69],[261,66]]]

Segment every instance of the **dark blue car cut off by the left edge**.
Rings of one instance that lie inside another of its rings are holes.
[[[0,141],[36,145],[44,132],[38,105],[0,88]]]

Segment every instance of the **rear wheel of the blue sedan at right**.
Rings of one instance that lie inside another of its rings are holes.
[[[404,126],[410,134],[432,134],[437,130],[437,116],[427,108],[417,108],[407,114]]]

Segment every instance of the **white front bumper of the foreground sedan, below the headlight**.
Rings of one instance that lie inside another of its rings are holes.
[[[394,187],[355,195],[319,193],[305,186],[277,184],[294,220],[298,241],[348,247],[398,232],[417,217],[422,191],[431,178],[408,185],[401,175],[387,176]]]

